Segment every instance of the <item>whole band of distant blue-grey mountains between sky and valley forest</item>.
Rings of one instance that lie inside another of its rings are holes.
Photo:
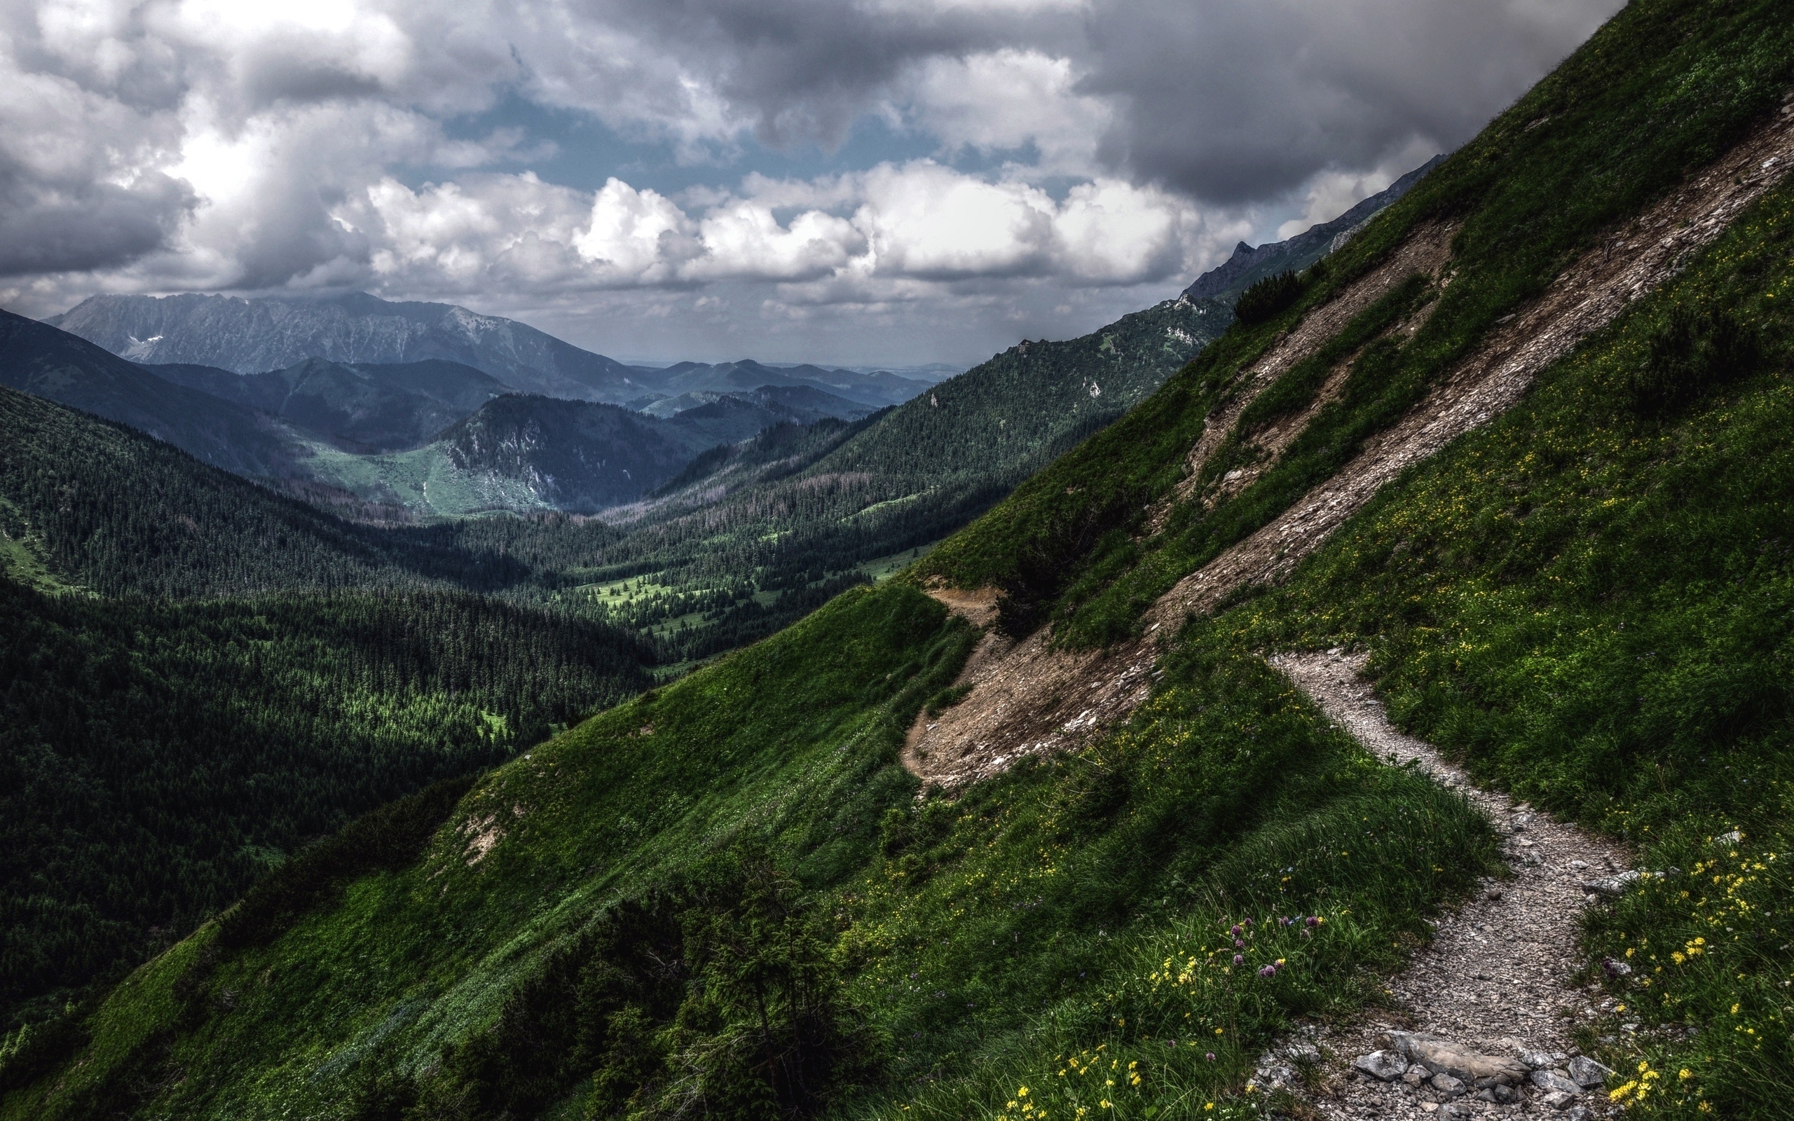
[[[592,513],[655,491],[649,509],[696,495],[703,506],[766,475],[748,470],[757,452],[701,452],[771,427],[845,421],[850,439],[777,436],[766,463],[797,470],[797,456],[823,475],[881,479],[874,490],[892,491],[881,500],[936,493],[956,524],[1152,393],[1225,330],[1240,291],[1313,264],[1432,165],[1299,237],[1241,244],[1177,301],[1082,339],[1023,343],[949,380],[938,366],[904,369],[913,377],[752,359],[628,366],[511,319],[352,292],[95,296],[45,323],[0,312],[0,384],[240,475],[411,517]],[[892,405],[904,407],[874,416]],[[814,459],[825,452],[827,465]]]

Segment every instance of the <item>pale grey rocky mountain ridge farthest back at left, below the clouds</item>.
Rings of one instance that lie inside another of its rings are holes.
[[[136,362],[285,369],[303,359],[348,366],[461,362],[524,393],[623,402],[635,369],[533,326],[448,303],[366,292],[316,298],[90,296],[45,319]]]

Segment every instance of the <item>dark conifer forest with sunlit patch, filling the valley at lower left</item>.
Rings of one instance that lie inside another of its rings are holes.
[[[355,814],[649,683],[624,633],[459,592],[172,604],[0,579],[0,631],[7,1024]]]

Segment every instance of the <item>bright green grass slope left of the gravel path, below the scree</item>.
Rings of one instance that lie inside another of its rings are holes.
[[[1423,915],[1491,866],[1493,838],[1460,800],[1376,766],[1254,655],[1207,640],[1168,665],[1127,734],[962,800],[917,802],[895,766],[901,732],[971,637],[902,585],[850,592],[596,717],[492,773],[414,866],[348,884],[267,945],[140,970],[90,1019],[106,1049],[54,1091],[14,1092],[0,1116],[81,1116],[83,1101],[174,1067],[210,1074],[127,1105],[344,1116],[339,1074],[377,1058],[441,1078],[443,1049],[495,1031],[608,906],[741,845],[777,854],[834,915],[845,999],[893,1040],[875,1089],[841,1108],[997,1108],[1014,1071],[1049,1074],[1076,1037],[1146,1056],[1152,1078],[1123,1114],[1143,1116],[1236,1087],[1292,1017],[1349,1010],[1374,988],[1365,970],[1398,961]],[[470,863],[493,825],[502,839]],[[1326,922],[1308,938],[1285,931],[1268,956],[1267,931],[1297,913]],[[1143,972],[1173,949],[1216,947],[1243,917],[1258,922],[1254,965],[1292,963],[1277,978],[1229,958],[1173,992]],[[213,929],[183,943],[185,960]],[[926,983],[902,981],[911,972]],[[1225,1035],[1166,1049],[1186,1013]]]

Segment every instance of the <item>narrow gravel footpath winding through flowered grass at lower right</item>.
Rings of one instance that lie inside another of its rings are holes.
[[[1387,1047],[1389,1033],[1399,1028],[1450,1038],[1482,1055],[1555,1055],[1554,1062],[1541,1067],[1546,1071],[1568,1065],[1575,1053],[1570,1031],[1577,1021],[1595,1019],[1597,1003],[1602,1003],[1600,995],[1572,983],[1579,965],[1575,952],[1581,911],[1589,899],[1597,899],[1597,891],[1616,891],[1631,863],[1613,841],[1552,821],[1525,804],[1516,805],[1505,795],[1478,789],[1430,744],[1396,730],[1376,692],[1360,676],[1363,662],[1363,656],[1338,653],[1272,658],[1272,665],[1286,673],[1308,700],[1367,752],[1392,764],[1415,760],[1419,769],[1460,791],[1489,814],[1503,834],[1503,856],[1514,879],[1489,884],[1462,909],[1446,915],[1433,942],[1389,981],[1412,1021],[1369,1022],[1337,1035],[1310,1037],[1308,1042],[1319,1044],[1331,1058],[1322,1064],[1326,1085],[1308,1096],[1329,1117],[1448,1116],[1464,1105],[1444,1112],[1439,1112],[1439,1105],[1467,1099],[1467,1094],[1441,1094],[1432,1085],[1353,1076],[1356,1073],[1347,1064]],[[1607,1006],[1611,1003],[1602,1004]],[[1259,1080],[1290,1080],[1290,1069],[1276,1055],[1259,1062]],[[1541,1058],[1534,1058],[1534,1064],[1539,1062]],[[1466,1091],[1475,1092],[1473,1087]],[[1593,1087],[1581,1089],[1573,1103],[1563,1105],[1598,1105],[1602,1096],[1589,1091]],[[1514,1096],[1537,1101],[1543,1087],[1527,1082]],[[1494,1103],[1476,1105],[1502,1108]],[[1512,1103],[1511,1108],[1520,1107]]]

